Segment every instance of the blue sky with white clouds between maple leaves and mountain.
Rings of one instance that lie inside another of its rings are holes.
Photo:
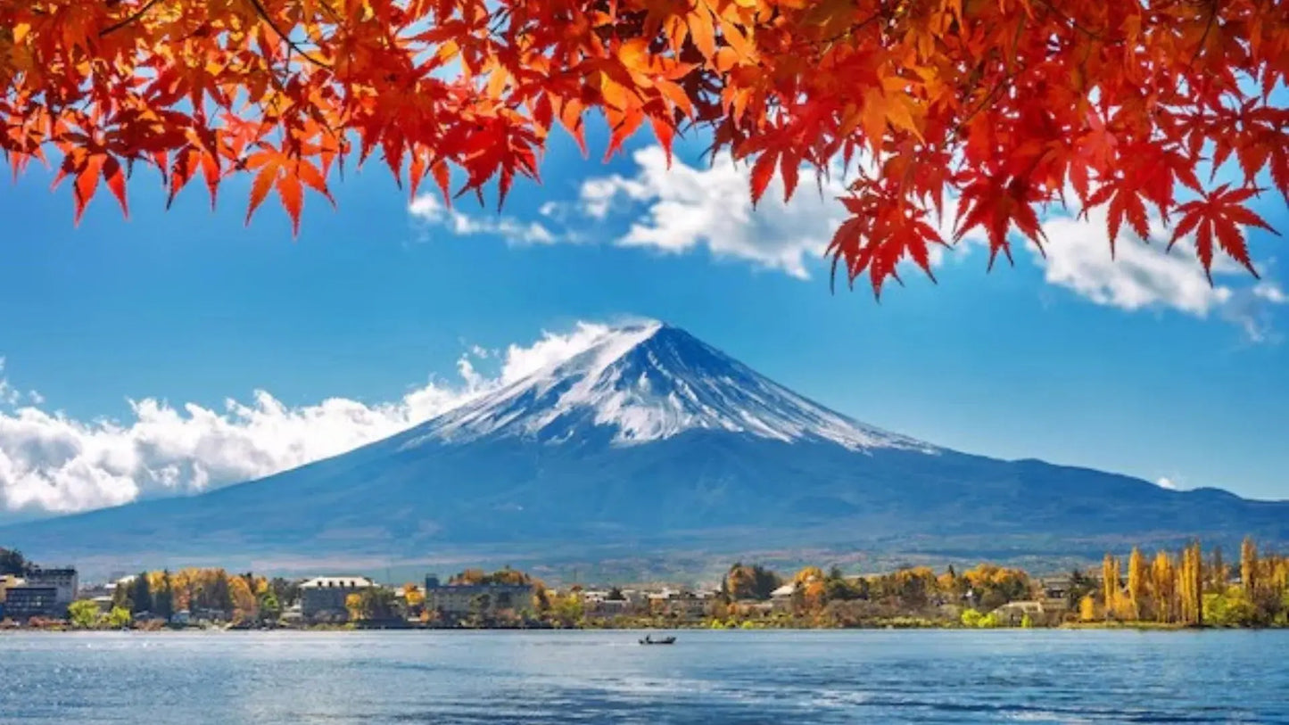
[[[1289,498],[1280,238],[1250,237],[1265,283],[1225,270],[1214,290],[1185,251],[1121,242],[1111,264],[1096,214],[1052,218],[1047,263],[1020,254],[1016,268],[987,274],[968,242],[941,260],[938,286],[910,269],[907,286],[875,304],[865,287],[829,292],[817,252],[835,205],[803,185],[804,201],[749,215],[745,170],[709,171],[699,144],[682,144],[681,166],[661,176],[651,146],[641,137],[602,164],[602,138],[589,160],[557,138],[544,184],[519,184],[501,215],[472,200],[455,212],[410,207],[374,162],[336,180],[338,210],[309,197],[295,241],[273,200],[244,227],[245,179],[222,188],[214,212],[196,187],[165,211],[144,174],[129,220],[102,194],[73,228],[70,189],[50,193],[52,176],[32,170],[0,196],[0,507],[129,500],[147,492],[121,483],[141,466],[153,482],[200,488],[300,462],[334,451],[300,452],[308,446],[282,437],[308,438],[317,416],[331,447],[414,422],[424,408],[344,429],[389,413],[432,376],[432,391],[450,395],[472,346],[501,350],[469,358],[470,375],[494,375],[508,345],[633,315],[941,446]],[[1258,211],[1289,229],[1279,197]],[[245,415],[228,412],[229,398]],[[349,407],[320,412],[327,398]],[[201,435],[218,435],[195,443],[193,417]],[[170,467],[135,460],[168,447]],[[229,462],[238,456],[259,462]],[[104,480],[117,488],[76,493]],[[62,493],[34,493],[40,485]]]

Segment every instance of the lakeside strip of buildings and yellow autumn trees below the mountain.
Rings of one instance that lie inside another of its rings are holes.
[[[224,569],[150,570],[81,582],[0,549],[0,630],[184,628],[842,628],[1284,627],[1289,558],[1245,540],[1227,563],[1197,542],[1100,569],[1031,577],[980,564],[874,574],[806,567],[781,574],[735,563],[708,587],[547,586],[504,568],[376,582],[343,573],[264,577]]]

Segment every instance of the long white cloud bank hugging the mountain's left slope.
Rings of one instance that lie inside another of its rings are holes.
[[[131,400],[124,422],[76,420],[36,400],[0,410],[0,519],[6,511],[84,511],[199,492],[335,456],[513,382],[589,346],[606,330],[577,323],[566,335],[544,332],[530,346],[510,345],[491,355],[499,364],[494,376],[476,370],[473,361],[487,358],[477,348],[458,361],[460,381],[431,380],[376,404],[329,398],[289,407],[257,390],[249,403],[229,399],[223,410]],[[3,390],[13,386],[4,381]]]

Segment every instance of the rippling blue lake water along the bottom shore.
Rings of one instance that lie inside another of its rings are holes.
[[[0,722],[1289,722],[1289,631],[0,635]]]

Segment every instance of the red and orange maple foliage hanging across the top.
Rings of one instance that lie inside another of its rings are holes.
[[[298,228],[373,153],[412,193],[504,200],[596,112],[608,153],[710,139],[753,200],[844,164],[829,251],[877,292],[972,229],[990,264],[1042,247],[1053,202],[1107,207],[1111,247],[1154,209],[1252,272],[1250,198],[1289,198],[1286,76],[1281,0],[0,0],[0,148],[57,165],[77,219],[143,165],[170,200],[247,174],[247,219],[273,193]]]

